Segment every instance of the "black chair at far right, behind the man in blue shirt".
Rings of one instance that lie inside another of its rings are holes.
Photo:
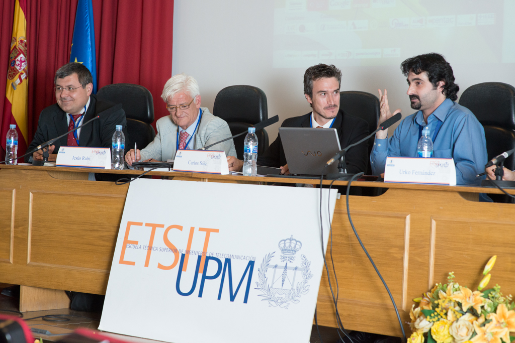
[[[515,88],[502,82],[484,82],[465,89],[459,104],[467,107],[483,125],[488,159],[515,148]],[[504,166],[515,170],[515,157]],[[489,195],[496,202],[511,202],[506,195]]]

